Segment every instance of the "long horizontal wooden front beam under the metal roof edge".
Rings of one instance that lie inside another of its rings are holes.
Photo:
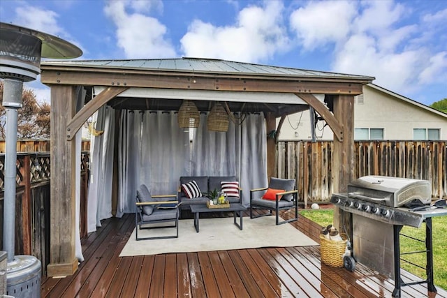
[[[293,80],[293,77],[245,78],[202,77],[191,73],[182,75],[159,75],[154,73],[91,72],[42,70],[43,84],[73,84],[82,86],[148,87],[167,89],[215,90],[215,91],[256,91],[305,94],[362,94],[362,84],[370,81],[324,79]]]

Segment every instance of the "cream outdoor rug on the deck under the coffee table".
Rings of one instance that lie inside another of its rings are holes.
[[[239,223],[239,218],[237,222]],[[197,233],[192,219],[182,219],[179,220],[178,238],[139,241],[135,240],[134,229],[119,256],[318,245],[289,223],[275,225],[274,216],[254,219],[244,217],[243,228],[241,231],[234,225],[233,217],[200,218],[200,232]],[[175,228],[138,231],[138,237],[155,234],[175,234]]]

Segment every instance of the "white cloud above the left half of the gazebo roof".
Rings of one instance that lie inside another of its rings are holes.
[[[152,3],[151,1],[145,3]],[[175,57],[175,49],[165,39],[166,26],[154,17],[139,13],[146,11],[142,1],[109,1],[105,14],[117,26],[117,43],[129,59],[152,59]],[[127,13],[130,7],[135,13]]]

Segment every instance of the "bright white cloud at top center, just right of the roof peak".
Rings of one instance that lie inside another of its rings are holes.
[[[194,20],[180,40],[186,57],[258,62],[288,49],[282,3],[266,1],[240,11],[237,24],[215,27]]]

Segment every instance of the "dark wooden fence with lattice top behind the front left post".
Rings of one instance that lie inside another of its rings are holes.
[[[87,235],[87,181],[89,154],[81,154],[80,234]],[[5,156],[0,154],[0,248],[3,247]],[[50,262],[50,153],[17,154],[15,197],[15,255],[34,255],[42,273]]]

